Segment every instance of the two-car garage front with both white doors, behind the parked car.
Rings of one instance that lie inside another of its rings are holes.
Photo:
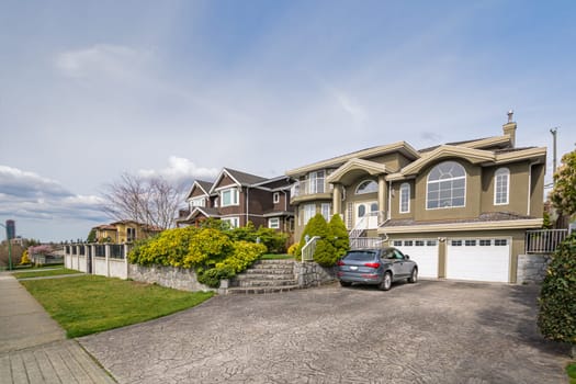
[[[391,244],[418,263],[422,278],[509,281],[511,239],[507,237],[411,238]]]

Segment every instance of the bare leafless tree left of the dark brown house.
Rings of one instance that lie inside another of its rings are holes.
[[[104,211],[114,219],[170,228],[181,200],[181,190],[162,178],[122,174],[106,185]]]

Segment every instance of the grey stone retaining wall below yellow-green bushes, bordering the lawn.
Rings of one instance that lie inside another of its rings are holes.
[[[216,291],[199,283],[196,273],[191,269],[128,264],[128,279],[181,291]]]

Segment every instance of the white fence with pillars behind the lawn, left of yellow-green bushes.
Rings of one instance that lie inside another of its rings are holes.
[[[64,266],[109,278],[128,278],[127,244],[72,244],[64,247]]]

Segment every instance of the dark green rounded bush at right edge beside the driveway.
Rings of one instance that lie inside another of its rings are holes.
[[[576,234],[552,256],[539,304],[538,327],[542,335],[576,345]]]

